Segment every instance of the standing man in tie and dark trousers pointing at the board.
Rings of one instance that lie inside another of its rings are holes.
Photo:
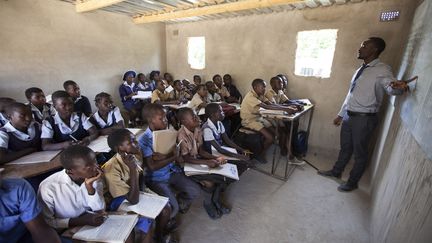
[[[400,95],[408,90],[406,81],[397,81],[390,66],[378,57],[385,49],[385,42],[379,37],[370,37],[361,44],[358,59],[364,61],[354,74],[348,94],[333,123],[342,124],[339,157],[333,169],[318,171],[318,174],[340,178],[345,166],[354,154],[354,167],[348,181],[338,187],[339,191],[352,191],[358,187],[366,169],[370,137],[374,131],[384,93]]]

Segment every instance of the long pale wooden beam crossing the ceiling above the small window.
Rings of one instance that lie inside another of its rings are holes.
[[[216,4],[205,7],[190,8],[185,10],[174,11],[170,13],[155,14],[150,16],[140,16],[133,18],[136,24],[152,23],[159,21],[167,21],[172,19],[181,19],[195,16],[203,16],[210,14],[236,12],[254,8],[266,8],[275,5],[304,3],[305,0],[244,0],[239,2],[230,2]]]

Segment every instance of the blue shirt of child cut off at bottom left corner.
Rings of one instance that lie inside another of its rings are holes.
[[[24,179],[3,179],[0,186],[0,242],[18,242],[25,223],[41,213],[31,185]]]

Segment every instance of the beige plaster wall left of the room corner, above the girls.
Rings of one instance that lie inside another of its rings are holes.
[[[91,101],[105,91],[121,105],[125,71],[166,68],[164,24],[135,25],[104,11],[76,13],[73,4],[58,0],[20,0],[0,1],[0,30],[0,96],[19,101],[28,87],[49,94],[72,79]]]

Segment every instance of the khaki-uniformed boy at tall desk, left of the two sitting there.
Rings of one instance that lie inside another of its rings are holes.
[[[288,114],[293,114],[297,110],[291,106],[281,106],[271,104],[270,101],[264,96],[266,91],[266,83],[262,79],[255,79],[252,82],[252,90],[249,91],[244,97],[240,106],[240,118],[242,119],[242,126],[260,132],[264,136],[263,153],[273,143],[274,129],[272,123],[261,117],[259,108],[270,110],[283,110]],[[282,140],[282,139],[280,139]],[[282,149],[286,148],[286,143],[280,141],[279,146]],[[261,162],[266,162],[265,158],[257,155]]]

